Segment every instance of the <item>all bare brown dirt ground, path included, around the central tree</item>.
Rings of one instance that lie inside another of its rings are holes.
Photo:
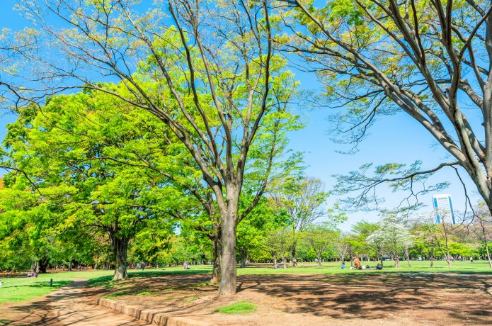
[[[118,287],[85,281],[23,305],[0,308],[7,325],[145,325],[96,306],[109,298],[195,325],[492,325],[492,278],[459,274],[248,275],[236,296],[215,297],[210,275],[132,278]],[[248,315],[214,309],[239,300],[258,305]],[[1,325],[1,322],[0,322]]]

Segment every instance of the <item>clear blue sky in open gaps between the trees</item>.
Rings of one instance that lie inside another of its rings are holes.
[[[2,17],[0,28],[16,30],[25,26],[23,18],[11,9],[14,3],[15,0],[0,1]],[[296,76],[301,81],[302,89],[316,90],[319,88],[314,75],[296,72]],[[370,137],[360,145],[359,152],[350,155],[339,154],[336,150],[347,150],[348,147],[334,144],[328,136],[328,130],[331,127],[327,117],[333,112],[333,109],[326,107],[314,111],[302,108],[297,108],[297,110],[306,123],[306,127],[290,134],[292,150],[305,152],[305,160],[308,165],[307,174],[323,180],[326,184],[326,190],[333,187],[333,174],[347,174],[368,162],[374,162],[374,164],[387,162],[411,164],[417,159],[421,159],[423,168],[428,169],[443,162],[447,154],[442,147],[434,146],[435,142],[430,134],[404,113],[379,119],[370,130]],[[469,110],[466,113],[471,115],[472,121],[478,121],[479,116],[474,111]],[[0,116],[0,140],[4,138],[5,125],[14,119],[13,116]],[[476,192],[475,186],[464,172],[462,172],[462,176],[467,182],[472,200],[476,203],[480,196]],[[450,193],[456,210],[463,210],[464,192],[454,170],[443,169],[429,180],[429,184],[440,181],[451,182],[450,188],[444,192]],[[388,208],[396,206],[404,196],[403,193],[394,194],[384,188],[379,189],[379,194],[386,197]],[[429,194],[421,198],[424,203],[428,204],[426,210],[430,210],[430,196]],[[332,196],[328,205],[335,203],[336,200],[336,196]],[[342,230],[345,231],[350,230],[350,225],[362,218],[370,221],[377,220],[377,212],[350,213],[348,216],[348,221],[342,225]]]

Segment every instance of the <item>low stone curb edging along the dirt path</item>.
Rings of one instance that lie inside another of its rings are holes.
[[[144,320],[146,322],[151,322],[156,325],[166,325],[166,326],[207,326],[209,324],[204,322],[191,322],[186,320],[185,317],[171,317],[165,313],[159,313],[159,310],[155,309],[143,309],[136,307],[134,305],[127,305],[125,303],[118,303],[115,300],[98,298],[97,304],[101,307],[109,308],[116,311],[117,313],[123,313],[135,317],[139,320]]]

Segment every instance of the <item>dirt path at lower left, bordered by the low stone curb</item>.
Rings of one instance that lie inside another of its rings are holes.
[[[147,325],[96,305],[101,291],[87,285],[88,281],[78,280],[29,303],[4,305],[0,308],[0,325]]]

